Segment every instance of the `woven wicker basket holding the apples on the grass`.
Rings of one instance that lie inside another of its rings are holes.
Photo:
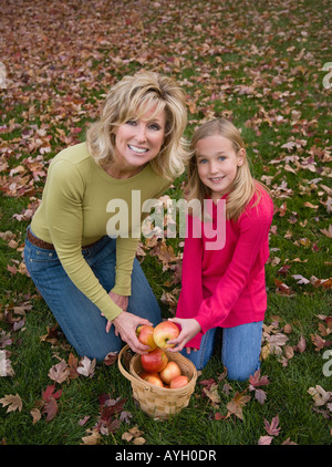
[[[125,353],[131,352],[129,346],[125,345],[118,355],[118,369],[121,373],[131,381],[133,397],[139,403],[143,412],[154,418],[168,418],[170,415],[179,413],[187,407],[190,396],[194,393],[197,380],[196,366],[180,353],[167,352],[168,361],[176,362],[181,373],[189,377],[189,383],[184,387],[170,390],[158,387],[142,380],[138,374],[143,372],[139,354],[135,354],[129,362],[129,373],[124,369],[122,359]],[[125,359],[124,359],[125,360]]]

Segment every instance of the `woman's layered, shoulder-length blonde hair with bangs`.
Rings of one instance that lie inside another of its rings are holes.
[[[151,165],[156,174],[170,180],[179,176],[188,159],[188,146],[183,137],[187,125],[185,95],[170,77],[149,71],[124,76],[107,94],[100,120],[86,133],[87,148],[95,162],[108,166],[115,151],[116,127],[141,118],[153,107],[153,117],[165,110],[166,126],[162,149]]]

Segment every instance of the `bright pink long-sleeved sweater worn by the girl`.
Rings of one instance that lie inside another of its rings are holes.
[[[264,264],[269,258],[273,203],[266,190],[259,189],[262,196],[257,206],[252,207],[257,199],[255,195],[237,221],[225,220],[226,243],[219,250],[207,249],[207,242],[212,238],[206,237],[204,228],[201,238],[194,238],[193,222],[197,227],[200,220],[187,219],[176,316],[195,318],[201,326],[201,332],[187,346],[199,349],[203,334],[211,328],[232,328],[264,318]],[[217,207],[214,204],[212,222],[216,230]],[[218,224],[220,226],[220,221]]]

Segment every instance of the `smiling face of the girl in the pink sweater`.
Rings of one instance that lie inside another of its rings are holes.
[[[214,200],[229,193],[238,167],[245,162],[246,151],[238,153],[230,139],[218,134],[199,139],[196,144],[198,175],[211,190]]]

